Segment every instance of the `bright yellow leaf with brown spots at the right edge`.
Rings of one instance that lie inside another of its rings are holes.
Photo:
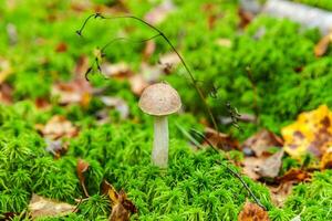
[[[332,113],[326,105],[302,113],[295,123],[281,129],[284,150],[294,158],[307,152],[317,157],[332,146]]]

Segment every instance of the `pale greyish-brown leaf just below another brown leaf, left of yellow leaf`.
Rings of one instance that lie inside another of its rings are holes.
[[[247,157],[243,160],[243,173],[253,180],[259,178],[276,178],[282,164],[283,150],[269,157]]]

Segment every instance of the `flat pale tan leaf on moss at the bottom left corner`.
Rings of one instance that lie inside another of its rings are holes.
[[[46,199],[34,193],[32,194],[29,203],[29,210],[31,211],[32,219],[40,217],[66,215],[73,213],[75,208],[75,206]]]

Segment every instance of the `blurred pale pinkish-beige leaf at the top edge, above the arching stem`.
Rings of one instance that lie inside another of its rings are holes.
[[[158,24],[162,23],[174,10],[175,6],[172,0],[163,0],[159,6],[145,14],[144,20],[151,24]]]

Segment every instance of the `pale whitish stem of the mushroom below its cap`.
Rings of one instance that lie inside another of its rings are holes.
[[[155,116],[154,147],[152,161],[155,166],[166,168],[168,164],[168,122],[167,116]]]

